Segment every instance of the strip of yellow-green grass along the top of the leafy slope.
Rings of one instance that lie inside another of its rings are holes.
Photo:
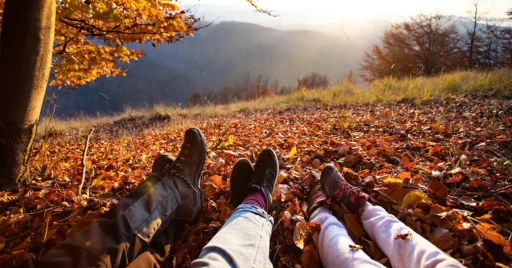
[[[512,98],[512,70],[491,72],[464,71],[436,77],[418,77],[397,80],[386,78],[366,88],[340,84],[324,90],[299,89],[288,95],[271,96],[227,105],[177,107],[155,105],[152,108],[127,108],[115,116],[82,116],[73,119],[43,119],[39,133],[45,130],[65,131],[70,128],[88,128],[129,117],[150,117],[156,113],[181,117],[214,117],[244,110],[296,107],[311,104],[359,104],[374,101],[394,102],[404,98],[420,102],[434,96],[460,95],[468,92],[493,91],[507,99]]]

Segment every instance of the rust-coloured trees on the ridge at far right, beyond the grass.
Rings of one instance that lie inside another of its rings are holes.
[[[480,24],[460,31],[455,20],[418,15],[393,25],[364,54],[361,77],[373,82],[385,77],[430,76],[455,70],[494,70],[512,63],[510,27]]]

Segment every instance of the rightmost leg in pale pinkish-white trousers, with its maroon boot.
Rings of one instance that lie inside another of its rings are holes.
[[[429,241],[415,233],[383,208],[367,203],[368,196],[348,184],[333,165],[326,165],[320,176],[322,191],[330,202],[344,206],[353,214],[361,213],[363,226],[394,268],[464,267]],[[410,239],[395,237],[411,233]]]

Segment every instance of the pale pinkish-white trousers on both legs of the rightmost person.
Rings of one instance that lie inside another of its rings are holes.
[[[384,267],[364,251],[349,248],[355,245],[354,241],[329,209],[318,208],[311,215],[311,221],[322,227],[319,236],[313,239],[324,267]],[[394,268],[464,267],[379,206],[368,204],[361,221]],[[394,239],[408,232],[412,234],[410,239]]]

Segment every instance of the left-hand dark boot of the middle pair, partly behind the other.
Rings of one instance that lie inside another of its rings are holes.
[[[229,178],[229,188],[231,189],[230,203],[234,207],[238,207],[245,198],[245,190],[251,182],[254,168],[252,167],[251,161],[246,158],[241,158],[236,161],[231,171],[231,177]]]

